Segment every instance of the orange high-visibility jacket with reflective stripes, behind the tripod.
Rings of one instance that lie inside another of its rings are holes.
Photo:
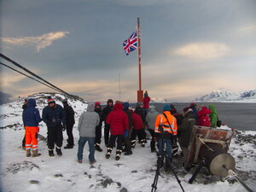
[[[172,129],[171,129],[170,125],[168,124],[166,117],[163,114],[159,114],[155,119],[154,132],[160,133],[159,125],[163,125],[162,126],[163,131],[172,133],[174,136],[176,136],[177,135],[177,120],[176,120],[176,118],[169,111],[164,111],[164,113],[166,114],[166,117],[167,117],[170,125],[172,126]]]

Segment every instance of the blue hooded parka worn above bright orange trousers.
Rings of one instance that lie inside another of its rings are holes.
[[[22,119],[24,126],[38,126],[42,121],[38,108],[36,108],[36,100],[28,99],[27,108],[22,113]]]

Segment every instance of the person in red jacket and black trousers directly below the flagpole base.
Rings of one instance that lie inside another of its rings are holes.
[[[137,113],[134,113],[131,110],[132,116],[132,131],[131,131],[131,147],[135,148],[136,145],[136,137],[138,137],[139,141],[141,142],[143,148],[145,147],[145,125],[143,124],[143,119]]]

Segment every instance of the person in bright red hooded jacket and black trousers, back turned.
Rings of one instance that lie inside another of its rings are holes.
[[[113,111],[108,114],[106,123],[110,125],[110,140],[108,145],[108,151],[106,158],[110,157],[115,141],[117,140],[117,149],[115,160],[120,159],[122,153],[122,144],[124,135],[128,134],[128,117],[127,114],[123,111],[123,105],[119,102],[116,102],[113,106]]]

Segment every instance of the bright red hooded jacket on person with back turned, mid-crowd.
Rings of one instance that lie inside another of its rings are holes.
[[[125,130],[129,129],[129,121],[127,114],[123,111],[122,104],[114,104],[113,111],[108,114],[106,123],[110,125],[111,135],[125,134]]]

